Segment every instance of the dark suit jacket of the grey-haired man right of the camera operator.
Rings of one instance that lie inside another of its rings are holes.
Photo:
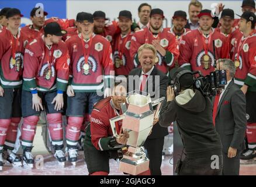
[[[245,113],[244,93],[231,81],[220,98],[215,118],[216,131],[220,134],[224,153],[227,153],[229,147],[244,150],[244,135],[247,124]]]

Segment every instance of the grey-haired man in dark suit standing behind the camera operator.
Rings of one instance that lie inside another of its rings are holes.
[[[247,124],[245,96],[233,82],[236,73],[233,61],[220,59],[217,69],[227,71],[227,85],[220,95],[213,98],[213,123],[223,145],[223,175],[239,175]]]

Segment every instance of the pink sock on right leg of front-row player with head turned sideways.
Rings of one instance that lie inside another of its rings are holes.
[[[53,145],[63,144],[63,124],[61,113],[47,114],[47,122]],[[57,140],[57,141],[56,141]]]

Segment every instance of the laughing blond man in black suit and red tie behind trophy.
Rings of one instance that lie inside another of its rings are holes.
[[[143,44],[140,46],[138,54],[141,68],[130,72],[127,91],[140,90],[142,93],[150,93],[152,101],[163,96],[166,98],[168,77],[154,66],[157,57],[154,46]],[[151,175],[161,175],[162,149],[168,130],[158,124],[157,118],[154,119],[153,124],[152,132],[144,143],[144,147],[147,149],[150,159]]]

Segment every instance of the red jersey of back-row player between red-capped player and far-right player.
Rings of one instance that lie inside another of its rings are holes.
[[[215,30],[216,32],[221,32],[220,30],[221,27],[217,27]],[[233,53],[234,53],[234,44],[237,43],[238,40],[241,39],[241,37],[243,36],[243,33],[240,32],[240,30],[236,29],[233,27],[233,29],[231,30],[231,33],[229,34],[224,34],[222,33],[224,36],[226,36],[227,41],[228,41],[228,45],[229,45],[229,57],[232,58],[233,57]]]

